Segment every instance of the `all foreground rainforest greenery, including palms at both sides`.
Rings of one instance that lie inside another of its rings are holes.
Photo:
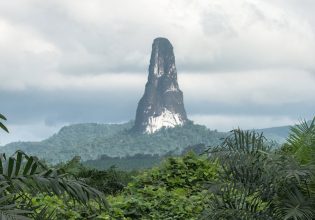
[[[5,121],[0,114],[9,132]],[[203,152],[169,155],[142,170],[2,153],[0,219],[311,220],[314,158],[315,118],[291,127],[278,148],[263,133],[235,129]]]

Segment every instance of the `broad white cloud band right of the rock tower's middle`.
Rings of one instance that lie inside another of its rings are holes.
[[[301,70],[187,73],[178,78],[186,100],[270,107],[315,102],[314,74]]]

